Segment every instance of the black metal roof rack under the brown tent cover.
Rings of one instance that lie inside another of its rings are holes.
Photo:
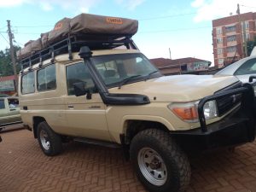
[[[49,45],[46,49],[37,51],[33,55],[27,56],[20,60],[21,71],[26,67],[32,67],[33,65],[40,63],[42,65],[43,61],[51,59],[52,62],[55,61],[56,55],[62,55],[68,53],[69,60],[73,59],[72,53],[79,52],[82,46],[88,46],[92,50],[96,49],[114,49],[119,46],[125,46],[126,49],[137,49],[136,44],[131,39],[131,36],[70,36],[59,41],[56,44]]]

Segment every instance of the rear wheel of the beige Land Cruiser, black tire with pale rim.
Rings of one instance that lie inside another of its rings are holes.
[[[38,143],[44,154],[54,156],[62,150],[61,136],[52,131],[49,125],[43,121],[38,124]]]

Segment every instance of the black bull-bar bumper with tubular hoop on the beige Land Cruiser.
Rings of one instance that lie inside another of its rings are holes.
[[[220,96],[242,93],[240,108],[224,117],[224,119],[210,125],[202,112],[203,105]],[[234,146],[241,143],[253,142],[255,138],[255,108],[254,93],[250,85],[236,90],[224,91],[220,94],[207,96],[199,104],[199,118],[201,127],[189,131],[172,131],[172,137],[185,149],[207,149],[224,146]]]

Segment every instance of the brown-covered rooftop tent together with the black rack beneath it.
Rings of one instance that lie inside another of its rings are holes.
[[[17,59],[29,63],[38,58],[42,61],[49,56],[79,51],[82,45],[93,49],[114,49],[122,44],[126,47],[133,44],[131,46],[137,49],[131,40],[137,28],[137,20],[118,17],[81,14],[73,19],[63,18],[51,31],[42,33],[41,38],[25,44],[17,52]]]

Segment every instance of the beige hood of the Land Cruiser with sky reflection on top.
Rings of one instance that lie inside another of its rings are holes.
[[[238,81],[234,76],[173,75],[125,84],[120,89],[109,89],[110,93],[142,94],[150,102],[191,102],[210,96]]]

